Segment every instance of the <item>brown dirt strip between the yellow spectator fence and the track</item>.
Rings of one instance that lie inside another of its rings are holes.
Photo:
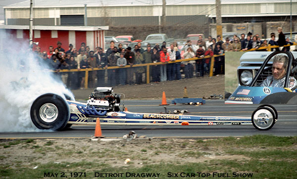
[[[166,97],[171,99],[184,97],[185,87],[187,87],[188,97],[224,95],[224,75],[142,85],[124,85],[113,89],[115,92],[124,93],[126,99],[162,99],[163,91],[165,91]],[[86,99],[93,91],[94,89],[72,90],[76,99]]]

